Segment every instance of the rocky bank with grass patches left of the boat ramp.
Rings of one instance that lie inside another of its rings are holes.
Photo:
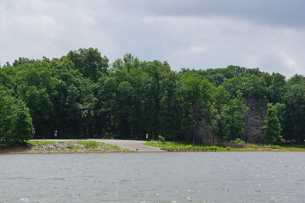
[[[47,152],[119,152],[118,147],[113,147],[104,143],[98,143],[96,147],[85,147],[76,142],[54,142],[43,145],[17,145],[2,147],[0,153],[47,153]],[[129,150],[130,151],[130,150]]]

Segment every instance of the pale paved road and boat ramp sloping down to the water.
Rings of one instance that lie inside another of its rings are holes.
[[[126,148],[130,150],[139,150],[139,152],[164,152],[160,148],[157,147],[151,147],[147,145],[143,145],[146,141],[138,141],[138,140],[103,140],[103,139],[90,139],[95,140],[97,142],[102,142],[109,145],[118,146],[121,148]],[[39,140],[41,141],[41,140]],[[45,141],[82,141],[82,140],[45,140]],[[87,140],[83,140],[87,141]]]

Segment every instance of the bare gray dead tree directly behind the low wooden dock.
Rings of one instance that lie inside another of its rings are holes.
[[[193,135],[193,145],[201,142],[208,142],[211,138],[211,126],[204,118],[204,108],[200,104],[200,100],[193,103],[194,117],[191,133]]]

